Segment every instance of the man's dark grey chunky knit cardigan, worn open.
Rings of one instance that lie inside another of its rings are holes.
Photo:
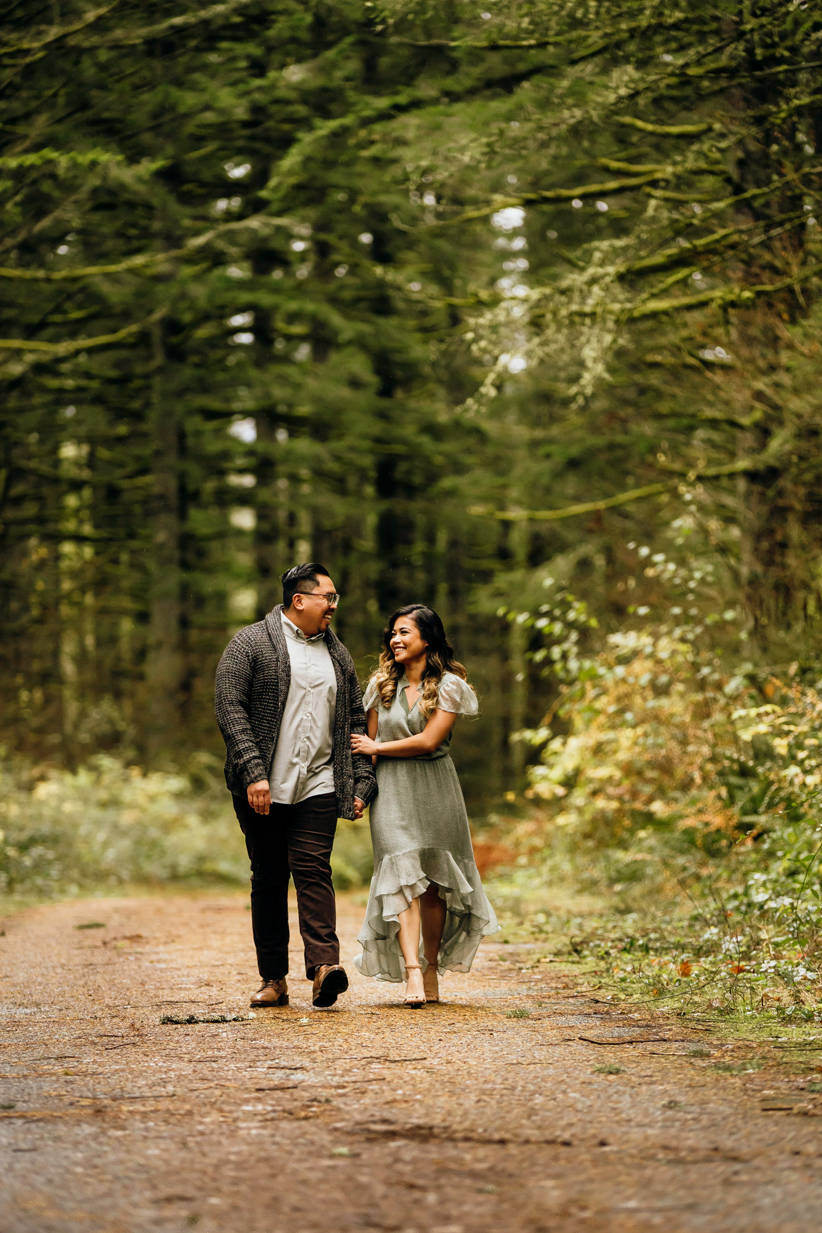
[[[277,604],[265,620],[235,634],[217,668],[216,711],[226,741],[226,783],[245,797],[250,783],[269,778],[282,711],[291,684],[291,661]],[[351,753],[351,732],[364,734],[362,693],[354,660],[330,629],[325,634],[336,677],[334,723],[334,790],[339,817],[354,817],[354,798],[377,795],[371,758]]]

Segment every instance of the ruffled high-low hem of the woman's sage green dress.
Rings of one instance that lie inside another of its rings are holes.
[[[354,965],[364,977],[401,983],[405,962],[399,949],[399,914],[430,885],[440,888],[446,904],[437,969],[470,972],[483,937],[499,925],[488,903],[473,861],[456,861],[444,848],[412,848],[383,857],[371,880],[368,906],[357,941],[362,946]],[[420,967],[428,968],[420,940]]]

